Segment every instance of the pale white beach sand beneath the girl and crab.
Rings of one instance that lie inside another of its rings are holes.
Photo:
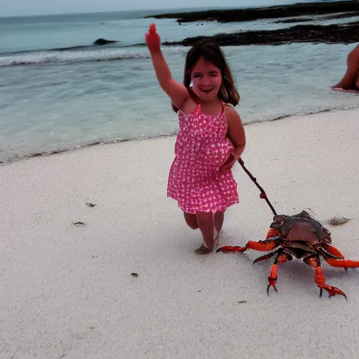
[[[359,260],[359,109],[245,130],[243,160],[277,212],[351,218],[325,225]],[[273,259],[195,255],[200,233],[165,194],[174,142],[0,168],[0,358],[358,358],[359,269],[323,264],[348,302],[319,298],[313,269],[299,261],[280,266],[278,293],[267,297]],[[221,245],[264,239],[273,217],[241,166],[234,171],[241,204],[226,213]]]

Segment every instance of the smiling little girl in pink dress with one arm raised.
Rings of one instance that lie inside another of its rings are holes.
[[[222,50],[215,43],[193,46],[186,57],[184,85],[172,79],[151,24],[145,35],[158,82],[178,113],[179,133],[167,195],[178,202],[191,229],[199,228],[198,255],[212,252],[224,212],[239,203],[231,168],[245,148],[245,131],[236,106],[239,95]]]

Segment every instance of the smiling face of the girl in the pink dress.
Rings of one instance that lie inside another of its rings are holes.
[[[222,86],[221,70],[201,57],[191,72],[191,88],[203,101],[217,98]]]

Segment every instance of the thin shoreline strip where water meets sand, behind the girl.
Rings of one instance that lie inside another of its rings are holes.
[[[308,111],[306,113],[299,113],[299,114],[284,114],[284,115],[281,115],[281,116],[278,116],[275,118],[271,118],[271,119],[256,120],[256,121],[252,121],[250,123],[244,123],[243,126],[254,125],[256,123],[280,121],[280,120],[285,120],[286,118],[291,118],[291,117],[302,117],[302,116],[309,116],[309,115],[313,115],[313,114],[322,114],[324,112],[331,112],[331,111],[350,111],[352,109],[359,109],[359,104],[349,106],[349,107],[338,107],[338,108],[334,108],[334,109],[320,109],[318,111]],[[86,143],[86,144],[77,144],[77,145],[74,145],[74,147],[65,147],[63,149],[53,149],[50,151],[31,151],[27,155],[12,158],[10,161],[0,161],[0,169],[1,169],[1,167],[4,167],[6,165],[11,165],[13,163],[18,163],[20,161],[26,161],[26,160],[34,158],[34,157],[47,157],[47,156],[52,156],[55,154],[62,154],[62,153],[77,151],[79,149],[86,149],[88,147],[102,146],[102,145],[107,145],[107,144],[121,144],[123,142],[137,142],[137,141],[140,142],[140,141],[146,141],[146,140],[157,140],[157,139],[161,139],[161,138],[175,137],[176,135],[177,135],[177,132],[168,133],[168,134],[166,133],[163,135],[148,135],[148,136],[142,136],[142,137],[129,137],[129,138],[121,139],[121,140],[118,140],[118,139],[105,140],[105,141],[98,140],[98,141],[90,142],[90,143]]]

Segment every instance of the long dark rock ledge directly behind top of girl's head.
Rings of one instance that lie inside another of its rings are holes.
[[[297,25],[285,29],[234,32],[187,37],[163,45],[192,46],[198,41],[216,41],[219,46],[283,45],[284,43],[354,43],[359,41],[359,21],[341,25]]]

